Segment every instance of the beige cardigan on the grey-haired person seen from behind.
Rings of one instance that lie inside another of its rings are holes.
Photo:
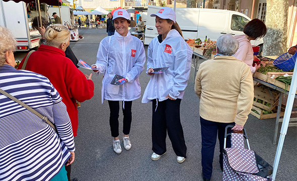
[[[250,67],[233,56],[216,56],[201,63],[195,80],[200,116],[208,121],[243,126],[253,105]]]

